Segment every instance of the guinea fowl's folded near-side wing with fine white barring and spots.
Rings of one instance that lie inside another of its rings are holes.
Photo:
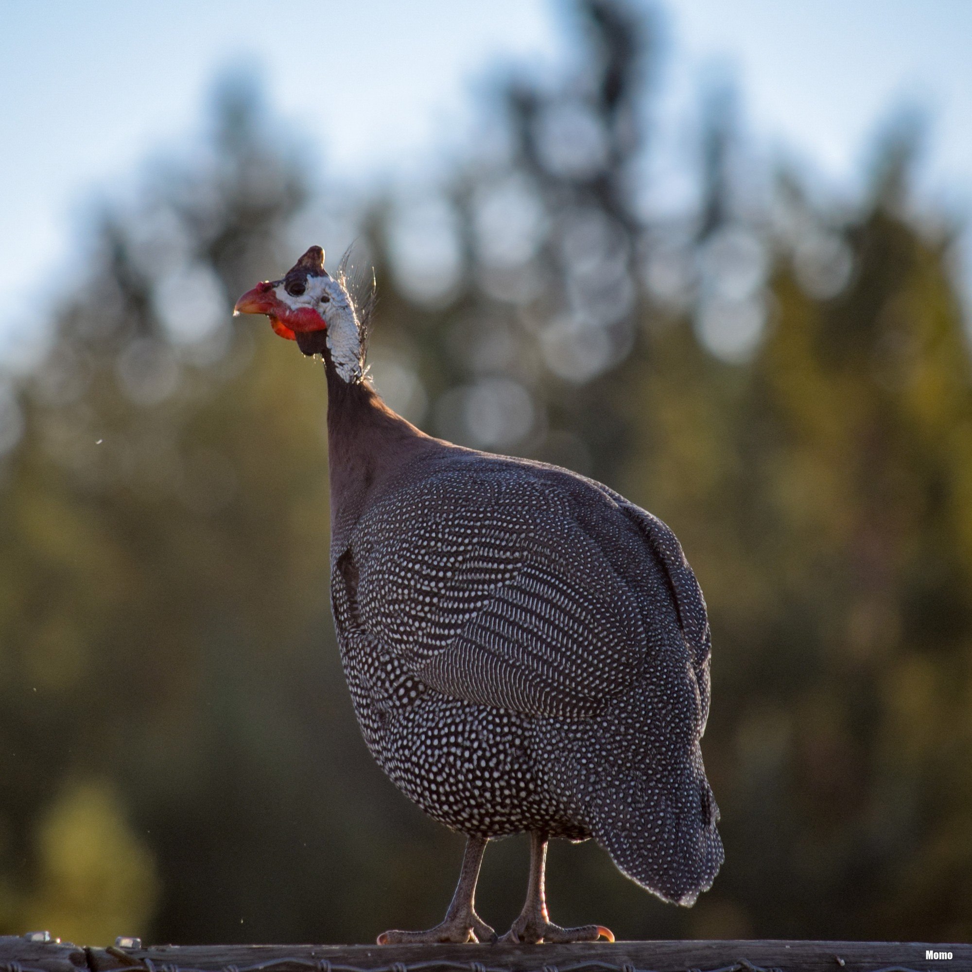
[[[353,553],[359,623],[447,695],[579,717],[642,672],[636,597],[530,476],[424,481],[372,509]]]

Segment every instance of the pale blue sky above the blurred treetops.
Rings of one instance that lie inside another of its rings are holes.
[[[728,79],[761,150],[852,187],[880,124],[917,108],[922,187],[967,211],[972,2],[633,2],[659,15],[669,119]],[[434,167],[491,76],[573,42],[557,0],[0,0],[0,17],[0,358],[69,276],[92,200],[197,136],[221,74],[256,74],[322,177],[365,185]]]

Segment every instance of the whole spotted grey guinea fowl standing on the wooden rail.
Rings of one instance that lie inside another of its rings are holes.
[[[368,383],[370,300],[311,247],[243,295],[324,358],[330,594],[364,741],[427,814],[467,836],[455,896],[428,931],[379,943],[495,940],[475,912],[487,842],[529,831],[514,942],[613,940],[547,915],[551,837],[593,837],[629,878],[694,903],[720,864],[699,741],[710,632],[664,523],[568,469],[433,438]]]

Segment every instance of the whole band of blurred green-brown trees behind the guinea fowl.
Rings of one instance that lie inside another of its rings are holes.
[[[557,846],[554,917],[967,938],[972,374],[951,230],[916,211],[900,137],[855,207],[786,174],[754,209],[724,99],[698,211],[647,220],[650,25],[578,10],[576,73],[498,89],[505,150],[460,164],[431,223],[395,200],[357,213],[379,390],[435,434],[658,513],[711,609],[723,872],[682,911]],[[226,87],[216,116],[191,166],[106,215],[17,389],[0,932],[367,941],[439,920],[457,874],[461,841],[373,766],[340,672],[320,364],[228,316],[330,244],[339,207],[312,204],[252,92]],[[516,839],[487,854],[498,926],[525,863]]]

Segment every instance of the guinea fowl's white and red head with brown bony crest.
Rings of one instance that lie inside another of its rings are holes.
[[[305,355],[330,352],[344,381],[364,375],[362,321],[348,293],[344,261],[335,277],[324,268],[324,250],[312,246],[280,280],[264,280],[236,301],[233,314],[265,314],[281,337]]]

